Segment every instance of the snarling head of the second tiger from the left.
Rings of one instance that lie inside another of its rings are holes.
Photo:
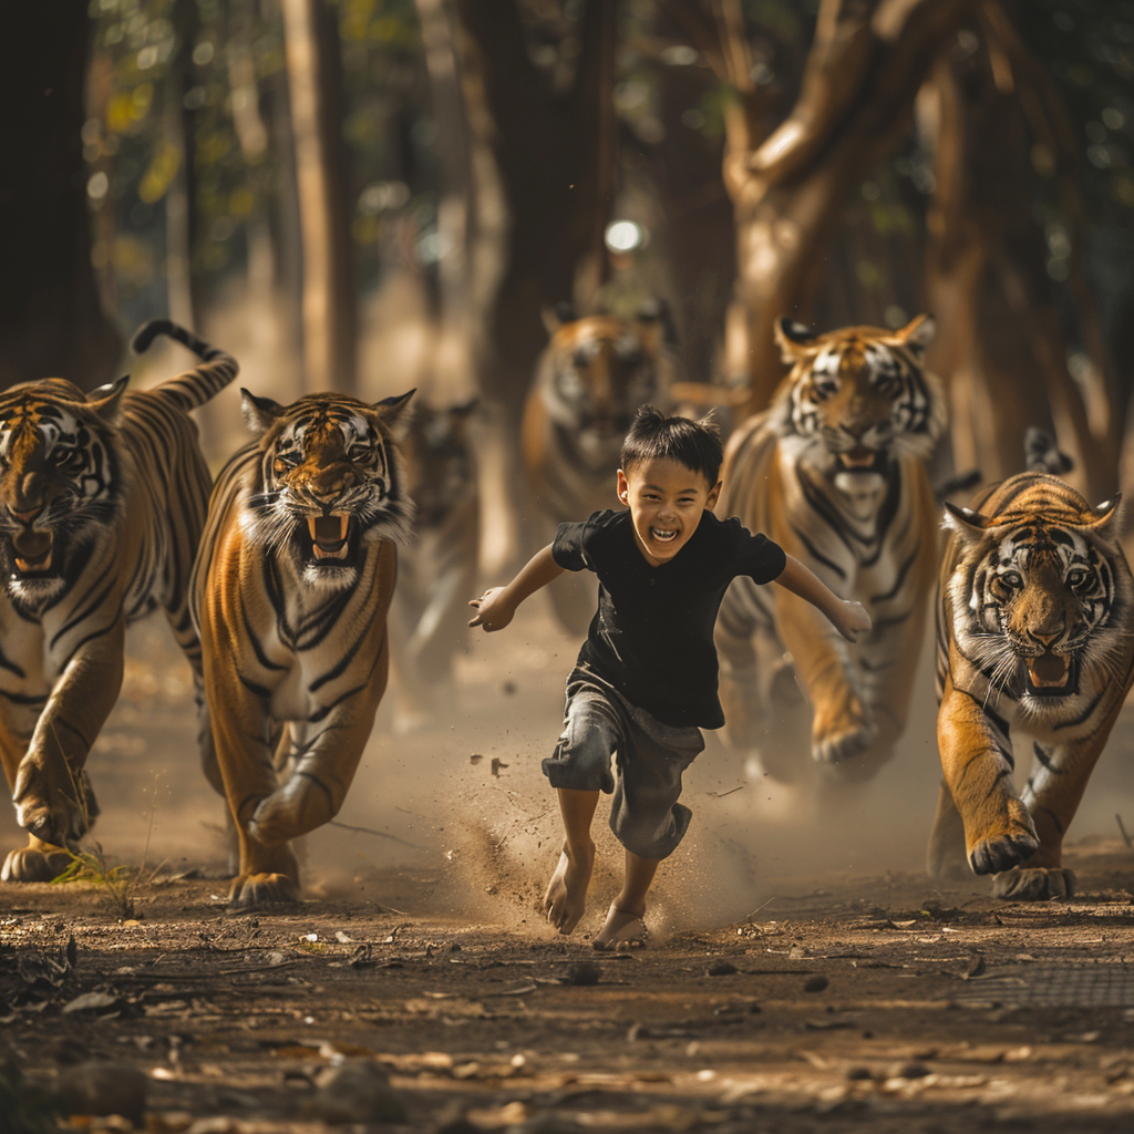
[[[408,536],[414,506],[395,429],[414,391],[376,405],[310,393],[287,407],[240,393],[261,454],[247,533],[308,585],[352,586],[372,544]]]

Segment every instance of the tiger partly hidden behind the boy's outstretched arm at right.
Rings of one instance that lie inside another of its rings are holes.
[[[764,739],[793,668],[821,784],[873,775],[905,728],[937,566],[925,458],[945,403],[922,365],[933,331],[926,315],[826,335],[782,321],[792,371],[729,439],[717,514],[770,535],[874,624],[852,648],[782,587],[733,583],[717,620],[726,741],[776,778],[802,771],[790,745]]]

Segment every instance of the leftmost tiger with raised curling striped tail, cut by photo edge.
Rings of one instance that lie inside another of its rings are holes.
[[[231,355],[168,320],[201,364],[150,390],[88,395],[46,378],[0,395],[0,760],[27,846],[0,878],[48,881],[99,813],[87,754],[122,683],[128,623],[164,611],[193,669],[198,745],[220,789],[187,583],[212,484],[189,411],[236,376]]]

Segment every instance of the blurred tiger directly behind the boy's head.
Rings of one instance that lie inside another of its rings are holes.
[[[676,373],[660,304],[644,304],[633,319],[576,319],[560,307],[544,314],[544,324],[551,338],[521,426],[534,513],[528,531],[540,545],[550,542],[560,523],[610,507],[612,473],[634,413],[645,403],[667,407]],[[593,589],[573,579],[549,594],[560,623],[585,633],[594,613]]]

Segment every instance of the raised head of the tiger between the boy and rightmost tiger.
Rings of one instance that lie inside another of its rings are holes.
[[[891,458],[925,458],[945,428],[945,398],[922,358],[936,324],[919,315],[897,331],[846,327],[827,335],[781,320],[792,372],[776,396],[780,443],[836,488],[879,488]]]

